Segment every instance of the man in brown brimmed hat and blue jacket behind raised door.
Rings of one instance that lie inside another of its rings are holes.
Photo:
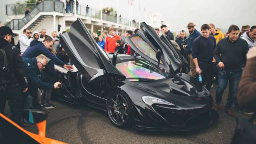
[[[192,77],[196,76],[196,65],[192,58],[192,44],[194,42],[194,39],[196,39],[198,36],[201,36],[200,32],[196,30],[195,26],[196,25],[193,22],[189,22],[188,26],[186,26],[186,28],[188,28],[188,32],[190,33],[187,39],[188,46],[186,48],[186,54],[188,54],[188,57],[189,57],[190,70],[191,70]]]

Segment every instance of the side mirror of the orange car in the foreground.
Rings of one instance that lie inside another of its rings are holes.
[[[46,120],[47,114],[44,110],[27,109],[22,110],[22,119],[28,124],[37,124]]]

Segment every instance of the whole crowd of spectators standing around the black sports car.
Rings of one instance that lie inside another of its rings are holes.
[[[228,34],[223,34],[214,24],[203,24],[200,32],[195,26],[193,22],[189,22],[186,26],[189,35],[186,35],[185,30],[181,30],[176,38],[166,25],[162,25],[160,29],[155,28],[155,32],[158,36],[162,33],[170,39],[188,60],[189,74],[194,78],[202,76],[202,84],[207,90],[211,90],[214,78],[217,80],[214,110],[219,110],[223,92],[229,84],[225,112],[234,116],[231,110],[234,105],[246,114],[254,114],[256,48],[253,47],[256,47],[256,26],[242,26],[240,32],[238,26],[231,25]],[[108,35],[104,31],[97,37],[96,33],[92,32],[92,38],[105,52],[117,51],[119,54],[132,55],[134,51],[126,42],[126,37],[138,30],[117,34],[114,28],[110,27]],[[55,108],[50,98],[52,90],[59,88],[61,83],[56,80],[58,70],[54,68],[54,64],[67,70],[73,69],[68,55],[61,52],[64,49],[60,46],[58,32],[51,32],[51,36],[46,32],[46,29],[42,29],[32,34],[29,29],[24,29],[22,34],[19,34],[18,44],[14,46],[12,36],[16,34],[7,26],[0,27],[0,112],[4,113],[8,100],[11,118],[17,124],[22,124],[23,109]],[[244,80],[239,83],[241,76]],[[238,86],[241,87],[240,90]],[[247,100],[243,93],[248,94],[250,98]]]

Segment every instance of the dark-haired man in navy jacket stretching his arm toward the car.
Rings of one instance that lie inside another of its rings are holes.
[[[66,70],[73,69],[72,66],[64,64],[59,58],[57,58],[50,50],[53,46],[53,40],[50,38],[44,39],[43,42],[39,42],[38,40],[33,40],[30,43],[30,46],[26,49],[26,51],[22,54],[23,58],[34,58],[43,54],[47,58],[50,58],[57,65],[62,66]]]

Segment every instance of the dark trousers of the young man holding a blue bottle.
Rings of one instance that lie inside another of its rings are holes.
[[[210,91],[212,88],[213,83],[213,76],[214,76],[214,63],[213,62],[201,62],[198,61],[198,66],[202,70],[202,79],[203,79],[203,85],[207,90]],[[198,78],[198,74],[197,74]]]

